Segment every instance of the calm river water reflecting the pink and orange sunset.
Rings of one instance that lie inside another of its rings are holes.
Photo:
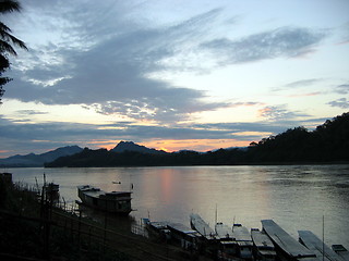
[[[29,167],[7,172],[12,172],[14,182],[31,185],[36,178],[43,184],[45,173],[47,182],[60,185],[60,195],[69,202],[79,199],[77,185],[107,191],[133,187],[135,211],[130,215],[135,221],[149,216],[189,225],[189,215],[195,212],[212,227],[217,219],[228,225],[261,228],[261,220],[273,219],[294,238],[299,229],[310,229],[324,236],[328,245],[349,248],[349,165]]]

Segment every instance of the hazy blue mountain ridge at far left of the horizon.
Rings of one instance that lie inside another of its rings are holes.
[[[41,154],[29,153],[26,156],[12,156],[7,159],[0,159],[2,167],[25,167],[25,166],[44,166],[45,162],[51,162],[63,156],[72,156],[81,152],[83,149],[79,146],[67,146],[51,150]]]

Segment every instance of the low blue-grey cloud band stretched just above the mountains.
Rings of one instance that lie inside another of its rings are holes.
[[[258,140],[269,134],[284,132],[298,126],[299,122],[276,121],[256,123],[216,123],[216,124],[178,124],[137,125],[132,122],[111,124],[81,123],[28,123],[13,122],[0,116],[1,150],[14,154],[16,148],[21,153],[47,151],[67,145],[96,148],[110,140],[133,140],[149,142],[152,140]],[[249,132],[251,134],[249,134]],[[241,135],[241,133],[244,133]]]

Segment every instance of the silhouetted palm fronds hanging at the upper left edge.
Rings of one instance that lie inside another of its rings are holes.
[[[20,12],[21,4],[15,0],[0,0],[0,15]],[[10,67],[9,55],[16,55],[13,46],[27,50],[25,44],[12,35],[12,30],[0,21],[0,103],[3,96],[3,86],[12,80],[3,77],[3,73]]]

